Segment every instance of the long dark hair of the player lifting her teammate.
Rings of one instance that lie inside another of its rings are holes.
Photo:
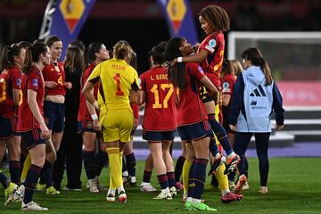
[[[182,56],[179,47],[184,42],[185,38],[182,37],[172,37],[169,39],[165,47],[164,59],[165,61],[173,61],[175,58]],[[172,81],[174,86],[177,86],[179,89],[184,89],[186,85],[185,79],[185,63],[175,63],[174,65],[168,66],[169,69],[169,79]]]

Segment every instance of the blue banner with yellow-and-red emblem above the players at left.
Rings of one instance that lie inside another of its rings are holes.
[[[50,34],[60,37],[63,43],[64,58],[68,44],[77,39],[80,29],[95,4],[95,0],[58,0],[53,14]]]

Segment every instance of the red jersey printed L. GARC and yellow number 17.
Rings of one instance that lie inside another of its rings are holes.
[[[170,131],[177,128],[176,89],[165,68],[155,67],[140,75],[141,90],[146,94],[143,128]]]

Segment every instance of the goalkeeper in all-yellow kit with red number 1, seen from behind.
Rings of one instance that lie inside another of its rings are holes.
[[[121,169],[124,144],[130,141],[130,133],[133,129],[134,115],[130,102],[138,103],[138,75],[131,67],[130,49],[127,42],[119,41],[113,46],[113,58],[100,63],[91,73],[82,93],[86,100],[95,106],[95,109],[103,111],[101,115],[103,141],[102,147],[107,151],[110,161],[110,189],[107,193],[107,201],[115,201],[116,189],[119,193],[119,202],[127,202]],[[94,95],[90,91],[95,83],[101,81],[99,94],[103,103],[98,106]],[[129,99],[130,95],[130,99]]]

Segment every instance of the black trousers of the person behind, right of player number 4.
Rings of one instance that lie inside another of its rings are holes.
[[[81,188],[82,137],[78,135],[77,114],[71,112],[66,115],[62,143],[53,165],[53,186],[56,189],[61,189],[65,166],[67,187]]]

